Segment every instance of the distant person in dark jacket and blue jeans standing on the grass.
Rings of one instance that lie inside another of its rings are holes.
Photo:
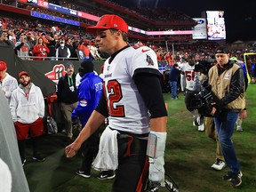
[[[178,81],[180,78],[180,69],[178,64],[174,64],[172,65],[172,69],[171,72],[169,74],[169,81],[170,81],[170,86],[172,89],[171,92],[171,100],[178,100],[178,96],[177,96],[177,89],[178,89]]]

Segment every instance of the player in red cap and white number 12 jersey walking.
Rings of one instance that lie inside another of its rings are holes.
[[[66,156],[75,156],[108,117],[92,165],[100,171],[116,170],[112,191],[141,191],[147,180],[144,174],[164,184],[167,111],[156,53],[148,46],[129,46],[128,25],[117,15],[101,16],[87,32],[96,34],[100,51],[111,56],[104,63],[104,94],[82,132],[65,148]]]

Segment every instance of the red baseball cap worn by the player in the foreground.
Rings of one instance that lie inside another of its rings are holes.
[[[113,14],[105,14],[100,17],[96,26],[86,28],[88,33],[95,34],[97,29],[115,28],[117,30],[128,33],[127,23],[119,16]]]

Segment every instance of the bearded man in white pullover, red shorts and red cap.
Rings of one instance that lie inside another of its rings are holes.
[[[28,72],[19,74],[19,86],[12,92],[10,109],[18,139],[21,163],[26,163],[25,145],[28,136],[33,143],[32,159],[44,162],[38,148],[40,136],[44,134],[44,97],[41,89],[30,82]]]

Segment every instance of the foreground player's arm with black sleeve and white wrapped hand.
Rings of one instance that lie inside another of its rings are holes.
[[[149,174],[151,181],[164,182],[164,150],[166,141],[167,111],[164,104],[158,76],[141,73],[134,78],[140,95],[150,113],[150,132],[148,136]]]

